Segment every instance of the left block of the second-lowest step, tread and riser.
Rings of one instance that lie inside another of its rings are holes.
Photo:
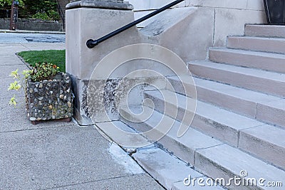
[[[143,108],[144,110],[152,110],[150,107]],[[131,110],[133,110],[133,112],[141,112],[142,107],[132,106]],[[124,116],[121,117],[120,120],[138,132],[150,131],[152,129],[162,131],[157,127],[160,124],[165,125],[165,127],[171,127],[171,129],[164,134],[164,137],[154,139],[153,137],[155,137],[155,135],[150,134],[152,136],[150,137],[150,135],[148,135],[147,139],[162,144],[165,149],[173,152],[175,156],[180,157],[180,159],[190,164],[195,164],[195,151],[197,151],[197,149],[205,149],[222,144],[219,140],[213,139],[191,127],[182,137],[177,137],[177,131],[183,124],[157,111],[153,111],[148,120],[142,120],[140,116],[132,115],[127,107],[121,107],[120,113]],[[134,117],[136,117],[137,122],[131,122],[134,120]],[[152,131],[152,133],[155,133],[155,131]]]

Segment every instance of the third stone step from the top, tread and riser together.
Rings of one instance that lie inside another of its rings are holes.
[[[285,50],[285,48],[283,49]],[[285,55],[283,54],[229,48],[210,48],[209,60],[217,63],[227,63],[230,65],[285,73]]]

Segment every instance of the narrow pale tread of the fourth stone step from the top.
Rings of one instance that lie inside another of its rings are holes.
[[[217,70],[224,70],[231,73],[239,73],[242,75],[251,75],[257,78],[264,78],[268,80],[275,80],[280,83],[285,82],[285,74],[274,73],[266,70],[259,70],[256,68],[243,68],[236,65],[227,65],[222,63],[214,63],[207,60],[197,60],[189,63],[191,65],[198,65],[206,68],[213,68]]]

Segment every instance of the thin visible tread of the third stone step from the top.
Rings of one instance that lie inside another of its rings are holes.
[[[285,39],[284,39],[285,41]],[[285,59],[285,55],[281,53],[269,53],[263,51],[248,51],[243,49],[234,49],[234,48],[209,48],[209,51],[219,51],[227,53],[239,53],[241,55],[250,55],[250,56],[260,56],[266,58],[279,58]],[[285,64],[285,63],[284,63]]]

